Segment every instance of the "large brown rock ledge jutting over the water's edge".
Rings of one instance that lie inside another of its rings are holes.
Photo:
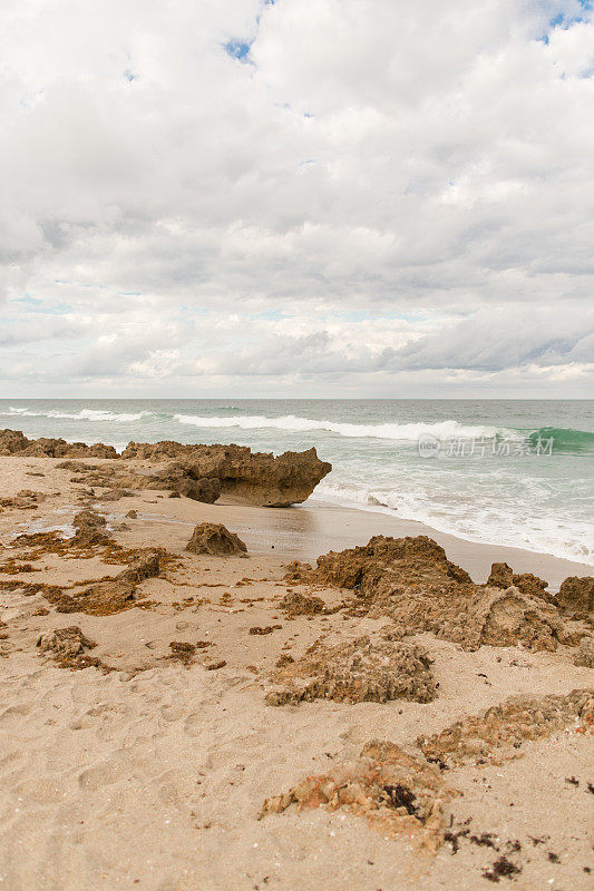
[[[214,503],[221,496],[262,507],[288,507],[312,493],[332,464],[321,461],[315,449],[284,452],[252,452],[244,446],[196,446],[181,442],[129,442],[121,456],[111,446],[64,439],[29,440],[20,431],[0,431],[0,457],[109,458],[118,469],[62,461],[64,469],[80,472],[78,482],[110,489],[163,489]],[[147,464],[158,467],[147,468]],[[104,496],[105,498],[105,496]]]

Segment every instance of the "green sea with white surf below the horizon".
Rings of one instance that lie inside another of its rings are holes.
[[[310,499],[594,565],[594,401],[0,400],[0,427],[111,443],[315,446]]]

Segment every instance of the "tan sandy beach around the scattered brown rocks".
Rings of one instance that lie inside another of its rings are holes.
[[[33,508],[0,510],[0,562],[25,555],[13,547],[16,535],[68,528],[82,506],[84,486],[57,463],[0,460],[1,498],[22,489],[46,496]],[[43,476],[30,476],[37,473]],[[327,614],[289,619],[281,598],[288,589],[309,590],[282,580],[290,560],[366,544],[371,535],[426,533],[479,582],[493,561],[533,571],[551,590],[568,575],[591,575],[588,567],[474,545],[382,513],[207,506],[154,491],[101,502],[100,495],[94,507],[111,527],[128,527],[111,532],[118,545],[164,548],[176,559],[139,585],[139,606],[114,615],[62,614],[42,590],[0,590],[1,888],[428,891],[488,889],[494,879],[517,889],[592,887],[592,736],[577,723],[523,742],[512,760],[444,771],[462,794],[447,804],[450,838],[435,854],[420,853],[406,835],[386,838],[344,809],[293,805],[259,819],[266,799],[339,770],[371,740],[422,758],[420,735],[508,696],[592,687],[592,669],[573,665],[571,647],[462,652],[422,634],[409,639],[434,660],[439,686],[431,702],[266,705],[281,655],[299,659],[322,635],[373,637],[387,625],[332,611],[344,596],[335,589],[314,591]],[[130,510],[136,519],[125,519]],[[202,521],[236,532],[247,556],[186,552]],[[45,552],[31,566],[40,571],[1,572],[0,581],[61,588],[125,569],[98,552]],[[96,644],[88,655],[109,670],[59,667],[36,646],[68,626]],[[179,659],[171,643],[196,649]],[[519,871],[499,878],[493,870],[502,858]]]

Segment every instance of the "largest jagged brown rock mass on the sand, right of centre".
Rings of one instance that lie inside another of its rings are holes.
[[[354,615],[389,616],[400,635],[432,631],[465,649],[522,643],[553,650],[568,639],[555,606],[515,587],[475,585],[426,536],[377,536],[367,547],[319,557],[301,578],[354,590]]]

